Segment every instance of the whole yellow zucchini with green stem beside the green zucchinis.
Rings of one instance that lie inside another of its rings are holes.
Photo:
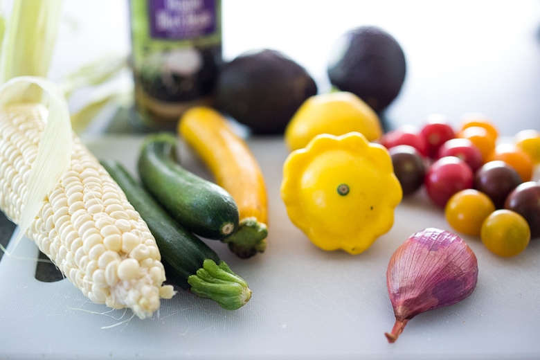
[[[210,107],[194,107],[179,121],[179,136],[199,154],[240,212],[236,233],[222,240],[240,258],[267,247],[267,189],[259,163],[245,141]]]

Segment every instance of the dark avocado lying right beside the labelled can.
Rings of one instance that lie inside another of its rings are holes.
[[[280,51],[249,51],[219,70],[215,107],[253,134],[283,134],[317,86],[307,71]]]

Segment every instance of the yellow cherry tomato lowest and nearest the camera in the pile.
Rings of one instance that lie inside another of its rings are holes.
[[[524,217],[512,210],[496,210],[482,225],[480,234],[489,251],[499,256],[515,256],[528,246],[530,227]]]

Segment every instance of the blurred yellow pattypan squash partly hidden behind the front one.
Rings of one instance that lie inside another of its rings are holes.
[[[379,116],[361,98],[347,91],[323,93],[307,98],[285,129],[289,150],[305,147],[318,134],[340,136],[359,132],[368,141],[381,137]]]

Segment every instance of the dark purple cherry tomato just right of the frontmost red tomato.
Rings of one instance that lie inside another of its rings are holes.
[[[498,209],[504,207],[508,194],[521,182],[518,172],[500,160],[485,163],[474,175],[474,188],[489,196]]]

